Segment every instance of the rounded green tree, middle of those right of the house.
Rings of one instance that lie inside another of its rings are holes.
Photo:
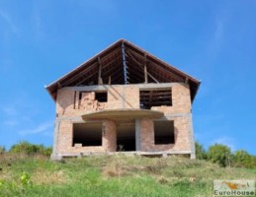
[[[209,148],[208,158],[211,162],[219,164],[220,166],[230,166],[232,162],[230,148],[220,144],[214,144]]]

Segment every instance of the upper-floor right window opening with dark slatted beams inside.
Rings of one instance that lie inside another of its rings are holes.
[[[172,106],[172,89],[140,90],[140,108],[151,109],[152,106]]]

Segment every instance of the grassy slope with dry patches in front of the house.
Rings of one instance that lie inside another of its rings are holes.
[[[28,177],[22,184],[23,171]],[[213,196],[213,179],[255,179],[256,170],[183,158],[101,156],[62,163],[0,156],[0,196]]]

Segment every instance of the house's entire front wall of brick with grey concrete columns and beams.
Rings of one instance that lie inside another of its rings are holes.
[[[175,143],[155,145],[154,120],[139,118],[136,132],[136,153],[141,154],[188,154],[195,157],[195,145],[191,116],[190,87],[185,83],[168,83],[154,85],[161,89],[171,89],[172,105],[152,106],[151,110],[162,111],[164,116],[159,121],[174,121]],[[142,87],[142,88],[141,88]],[[144,88],[145,87],[145,88]],[[168,87],[168,88],[166,88]],[[79,156],[96,153],[113,153],[117,151],[117,124],[119,119],[104,118],[99,120],[84,120],[81,118],[86,113],[111,109],[139,109],[139,91],[150,90],[150,85],[102,85],[86,87],[65,87],[58,89],[56,97],[56,122],[54,129],[54,146],[52,159],[57,160],[67,156]],[[98,92],[107,92],[107,101],[96,99]],[[126,117],[122,117],[123,121]],[[135,118],[129,117],[135,121]],[[73,145],[73,124],[102,122],[102,145],[82,146]],[[140,150],[139,150],[140,149]]]

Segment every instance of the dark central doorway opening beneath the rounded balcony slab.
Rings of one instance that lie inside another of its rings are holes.
[[[124,121],[117,123],[117,151],[135,151],[135,123]]]

